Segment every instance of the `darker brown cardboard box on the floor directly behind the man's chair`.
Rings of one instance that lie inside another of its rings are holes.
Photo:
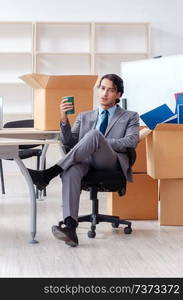
[[[134,182],[127,184],[126,195],[108,194],[110,214],[129,220],[158,219],[158,181],[147,174],[134,174]]]

